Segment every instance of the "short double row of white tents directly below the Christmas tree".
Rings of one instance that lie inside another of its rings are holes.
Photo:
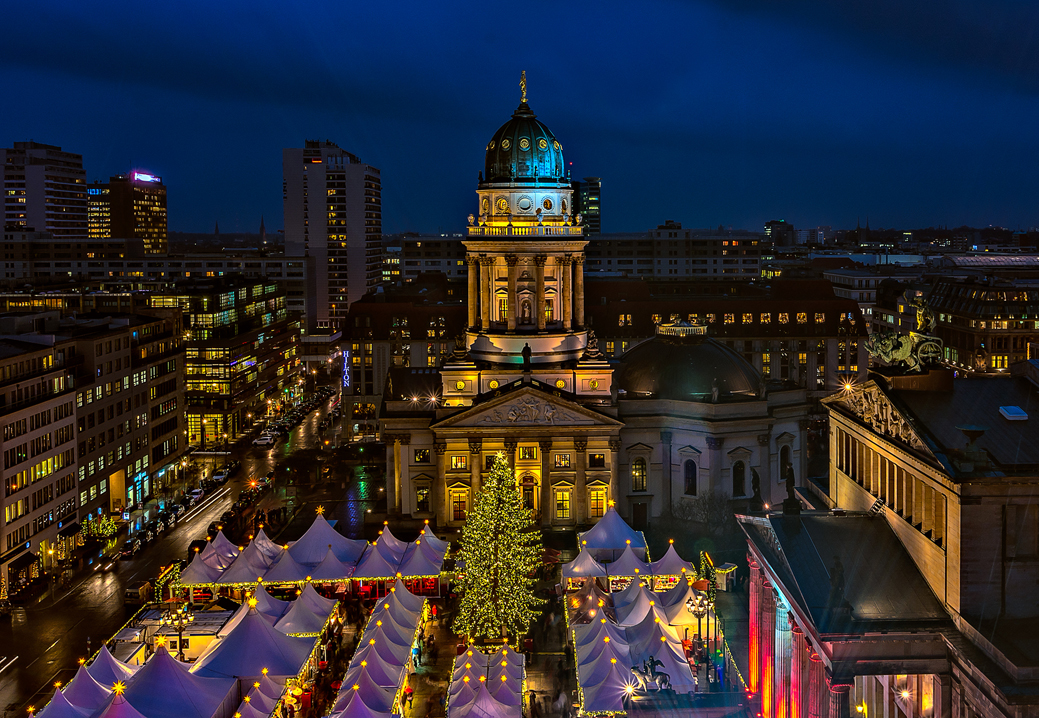
[[[448,718],[521,718],[525,659],[508,646],[491,654],[469,649],[455,658]]]

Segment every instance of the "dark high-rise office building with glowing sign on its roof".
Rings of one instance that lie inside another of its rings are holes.
[[[166,186],[161,177],[132,171],[90,184],[87,217],[90,239],[139,239],[145,255],[166,254]]]

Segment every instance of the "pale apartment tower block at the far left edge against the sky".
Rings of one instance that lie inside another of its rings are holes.
[[[4,224],[50,232],[55,239],[86,239],[83,156],[54,144],[15,142],[3,160]]]

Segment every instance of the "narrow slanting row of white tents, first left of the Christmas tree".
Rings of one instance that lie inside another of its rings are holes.
[[[357,640],[329,718],[390,718],[402,713],[401,692],[425,610],[426,600],[401,581],[379,600]]]

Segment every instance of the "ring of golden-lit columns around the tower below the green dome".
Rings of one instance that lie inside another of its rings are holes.
[[[535,325],[538,331],[545,331],[548,326],[548,299],[545,293],[545,266],[550,264],[556,271],[556,293],[559,307],[554,308],[553,321],[562,325],[564,331],[584,326],[584,261],[583,254],[561,256],[534,255],[518,257],[505,255],[502,257],[485,257],[470,254],[465,258],[469,271],[469,326],[481,331],[489,331],[494,324],[504,323],[508,331],[515,331],[521,324]],[[531,307],[532,317],[524,317],[521,290],[527,291],[529,277],[524,278],[524,287],[520,287],[522,267],[533,263],[535,302]],[[506,268],[506,316],[504,320],[497,316],[495,298],[497,292],[497,270]]]

